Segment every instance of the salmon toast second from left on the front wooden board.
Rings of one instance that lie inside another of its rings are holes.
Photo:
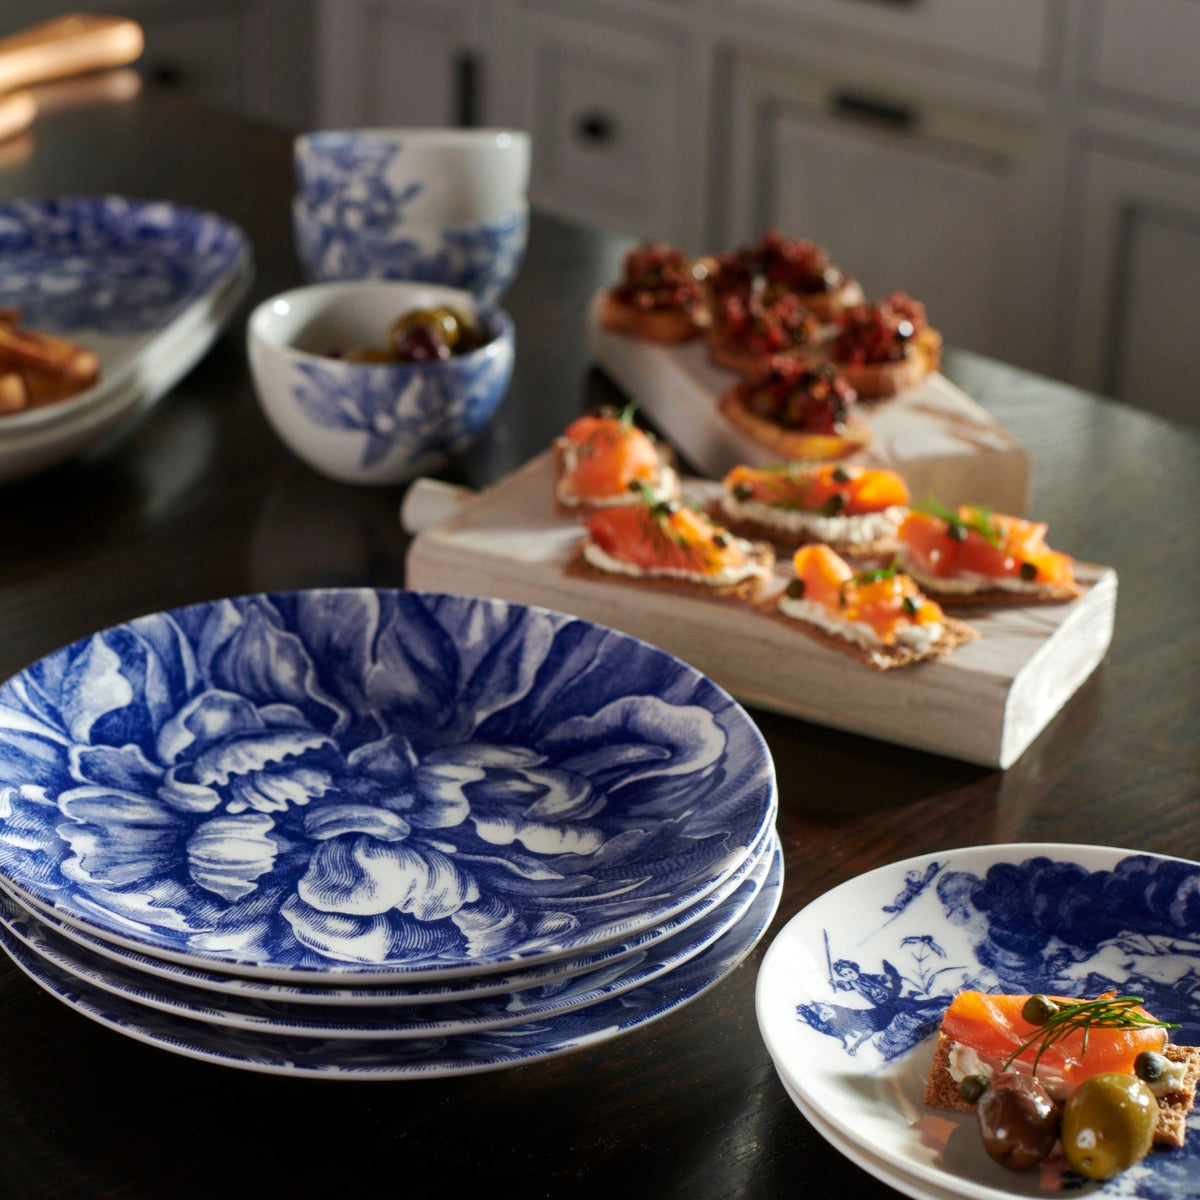
[[[696,509],[646,499],[592,514],[568,571],[754,601],[774,565],[769,545],[737,538]]]

